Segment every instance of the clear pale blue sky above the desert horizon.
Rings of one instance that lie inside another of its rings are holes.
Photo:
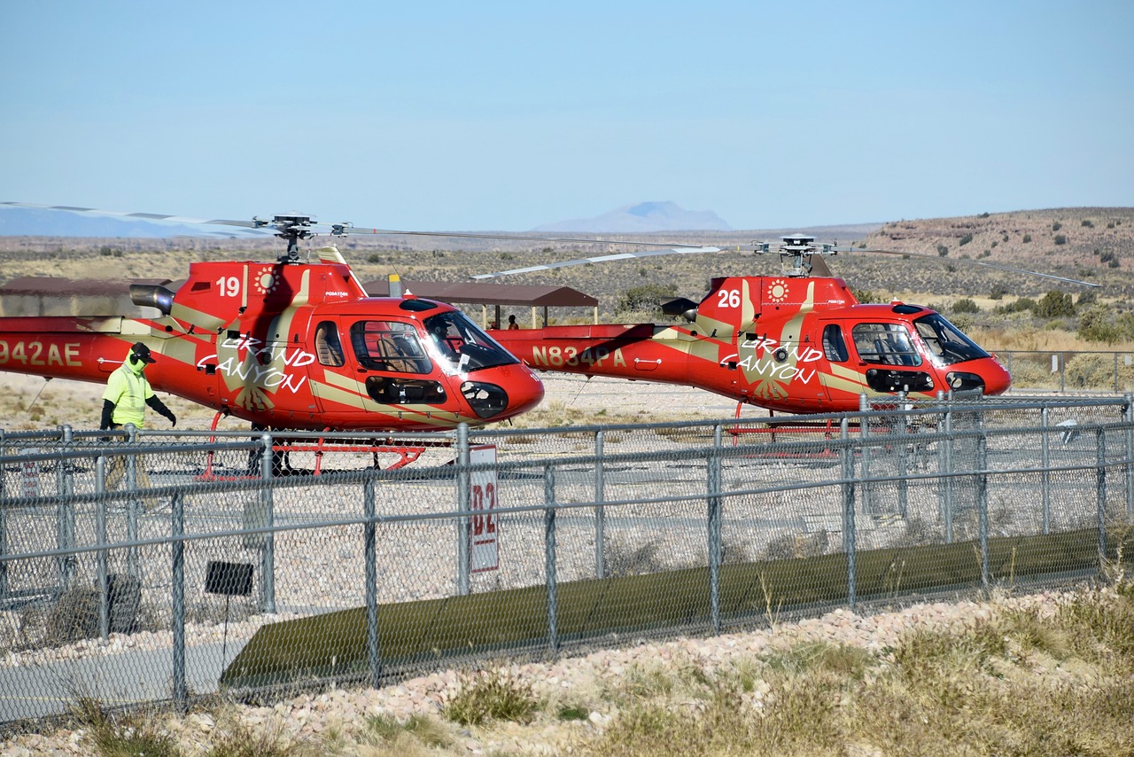
[[[0,1],[0,200],[418,230],[1134,205],[1134,2]]]

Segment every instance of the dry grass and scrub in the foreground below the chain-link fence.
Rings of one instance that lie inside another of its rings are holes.
[[[999,595],[975,617],[877,649],[806,641],[713,658],[675,651],[570,688],[536,688],[508,666],[469,672],[442,693],[456,725],[428,714],[332,712],[301,735],[234,704],[176,716],[105,713],[84,699],[76,746],[95,755],[289,757],[473,747],[626,757],[1134,755],[1134,584],[1042,603]]]

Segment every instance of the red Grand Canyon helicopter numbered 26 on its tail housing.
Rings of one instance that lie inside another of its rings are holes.
[[[771,245],[742,249],[770,252]],[[548,326],[490,334],[532,368],[694,386],[736,399],[737,412],[747,403],[790,413],[837,413],[858,410],[863,394],[904,393],[916,399],[950,390],[997,395],[1012,386],[1000,361],[940,313],[897,301],[860,303],[846,281],[831,277],[822,262],[821,255],[838,252],[835,245],[816,245],[814,237],[796,234],[782,237],[776,252],[787,263],[779,276],[714,278],[700,303],[676,300],[662,305],[666,314],[684,317],[685,325]],[[620,253],[474,278],[651,254],[659,252]]]

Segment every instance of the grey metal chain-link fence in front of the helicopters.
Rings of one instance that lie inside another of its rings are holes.
[[[1132,419],[8,434],[0,722],[1095,575],[1134,548]]]

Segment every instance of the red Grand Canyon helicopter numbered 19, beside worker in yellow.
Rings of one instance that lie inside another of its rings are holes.
[[[193,263],[176,291],[132,285],[153,318],[0,318],[0,370],[101,384],[142,342],[156,359],[146,370],[154,389],[218,419],[298,430],[451,429],[511,418],[543,397],[539,376],[456,308],[408,292],[369,297],[333,246],[301,260],[298,242],[316,235],[310,217],[178,220],[272,229],[287,252]]]

